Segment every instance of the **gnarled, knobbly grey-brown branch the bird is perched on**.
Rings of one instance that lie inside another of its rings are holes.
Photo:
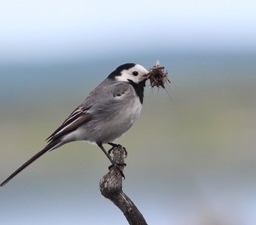
[[[113,149],[113,160],[120,165],[120,169],[123,171],[123,163],[125,157],[125,149],[118,145]],[[146,221],[139,209],[134,205],[132,200],[123,193],[122,190],[123,178],[117,168],[114,166],[109,172],[104,175],[99,182],[99,189],[105,198],[110,199],[114,205],[117,205],[126,217],[126,220],[130,225],[146,225]]]

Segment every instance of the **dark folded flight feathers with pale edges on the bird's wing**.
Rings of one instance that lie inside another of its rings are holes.
[[[66,121],[64,121],[61,126],[58,127],[46,140],[50,142],[53,139],[59,139],[67,133],[70,133],[78,128],[81,124],[90,121],[92,115],[87,112],[88,110],[90,110],[90,108],[91,107],[86,107],[81,104],[69,115]]]

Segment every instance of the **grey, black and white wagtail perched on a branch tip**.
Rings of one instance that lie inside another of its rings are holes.
[[[117,67],[46,139],[47,145],[6,178],[0,187],[45,153],[74,141],[96,143],[111,165],[120,170],[109,153],[117,146],[114,139],[126,133],[139,117],[148,78],[149,71],[142,65],[126,63]],[[112,148],[107,152],[104,144]],[[123,175],[121,170],[120,173]]]

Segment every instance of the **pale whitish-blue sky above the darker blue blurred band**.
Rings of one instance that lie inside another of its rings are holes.
[[[149,47],[254,51],[255,9],[256,1],[2,1],[0,60]]]

